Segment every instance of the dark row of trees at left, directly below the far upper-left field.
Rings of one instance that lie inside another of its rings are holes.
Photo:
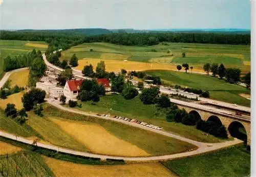
[[[18,56],[7,56],[4,58],[4,71],[11,71],[19,68],[30,67],[36,58],[42,58],[41,51],[36,52],[33,49],[31,52]]]

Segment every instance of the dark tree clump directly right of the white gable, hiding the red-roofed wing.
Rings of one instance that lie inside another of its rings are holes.
[[[96,79],[87,79],[82,82],[78,99],[81,101],[98,102],[100,100],[99,96],[103,95],[105,95],[104,86],[99,84]]]

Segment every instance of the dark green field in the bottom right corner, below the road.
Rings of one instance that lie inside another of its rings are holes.
[[[234,146],[162,164],[179,176],[249,176],[250,152],[244,146]]]

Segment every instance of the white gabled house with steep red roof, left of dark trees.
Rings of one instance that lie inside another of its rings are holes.
[[[64,86],[64,96],[67,97],[67,102],[69,100],[76,100],[76,97],[80,93],[80,87],[83,80],[70,80],[67,81]]]

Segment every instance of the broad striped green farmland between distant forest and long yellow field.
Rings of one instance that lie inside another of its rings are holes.
[[[164,64],[181,64],[187,62],[195,69],[203,69],[206,62],[223,63],[226,67],[238,67],[242,73],[250,71],[250,46],[212,45],[200,43],[160,43],[156,46],[136,47],[120,46],[104,42],[83,43],[62,52],[61,59],[70,59],[76,54],[79,59],[118,59],[142,62],[158,62]],[[93,49],[90,52],[90,49]],[[152,50],[155,50],[154,52]],[[169,51],[169,53],[167,53]],[[182,53],[186,57],[182,58]],[[164,58],[164,59],[163,59]]]

